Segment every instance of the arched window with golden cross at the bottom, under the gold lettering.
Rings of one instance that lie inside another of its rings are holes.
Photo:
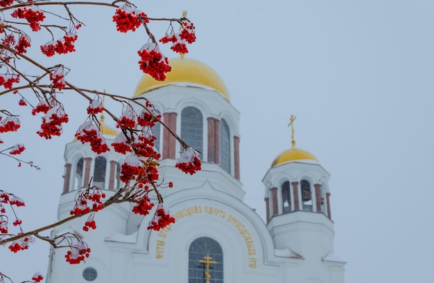
[[[189,248],[189,283],[223,283],[223,251],[217,241],[200,237]]]

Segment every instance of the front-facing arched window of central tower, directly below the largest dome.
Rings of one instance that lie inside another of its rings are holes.
[[[182,109],[181,138],[193,149],[203,152],[203,120],[199,109],[195,107]]]

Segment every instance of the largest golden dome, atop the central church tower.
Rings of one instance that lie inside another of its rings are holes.
[[[141,95],[153,89],[171,84],[198,84],[210,87],[218,91],[223,97],[230,102],[229,93],[225,83],[218,76],[216,71],[209,66],[197,60],[186,58],[173,58],[169,60],[172,71],[166,73],[166,80],[163,82],[154,80],[150,75],[144,75],[139,84],[137,84],[134,96]]]

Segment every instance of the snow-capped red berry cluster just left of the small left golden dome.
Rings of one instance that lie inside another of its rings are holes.
[[[92,151],[96,154],[110,151],[103,134],[92,124],[92,121],[84,122],[83,125],[78,128],[76,138],[83,144],[90,143]]]

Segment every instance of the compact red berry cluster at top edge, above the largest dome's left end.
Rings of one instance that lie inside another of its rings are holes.
[[[135,31],[141,25],[142,21],[149,23],[146,19],[148,16],[144,12],[134,10],[128,6],[117,9],[113,16],[116,23],[116,30],[126,33],[128,30]]]

